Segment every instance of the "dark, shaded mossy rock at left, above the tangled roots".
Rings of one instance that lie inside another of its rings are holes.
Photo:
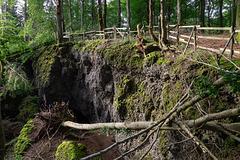
[[[24,98],[19,107],[20,113],[17,116],[17,119],[28,121],[29,119],[34,118],[34,114],[39,111],[38,101],[39,99],[37,96],[28,96]]]

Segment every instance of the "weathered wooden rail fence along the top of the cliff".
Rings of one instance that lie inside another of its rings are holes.
[[[234,30],[233,27],[201,27],[200,25],[190,25],[190,26],[178,26],[178,25],[168,25],[167,26],[168,32],[168,39],[175,40],[177,44],[185,43],[187,45],[193,45],[194,50],[196,51],[197,48],[209,50],[215,53],[224,52],[230,53],[231,57],[233,53],[240,54],[240,47],[239,50],[234,50],[234,34],[240,32],[240,30]],[[184,30],[184,34],[181,32]],[[142,26],[141,30],[143,37],[150,38],[148,27]],[[201,31],[209,32],[209,31],[224,31],[228,32],[230,36],[225,37],[218,37],[218,36],[209,36],[209,35],[198,35]],[[158,35],[158,26],[153,26],[153,33]],[[188,35],[191,33],[190,35]],[[137,31],[131,31],[129,28],[117,28],[117,27],[110,27],[105,28],[103,31],[88,31],[83,33],[66,33],[64,38],[71,40],[80,39],[82,41],[85,40],[94,40],[94,39],[118,39],[118,38],[128,38],[131,39],[136,37]],[[186,38],[188,40],[186,40]],[[227,41],[226,45],[222,48],[216,49],[211,47],[206,47],[204,45],[198,45],[199,39],[211,39],[211,40],[220,40],[220,41]],[[230,49],[227,49],[228,45],[230,44]]]

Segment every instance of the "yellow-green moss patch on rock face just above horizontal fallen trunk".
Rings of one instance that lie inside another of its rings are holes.
[[[145,114],[145,119],[150,120],[154,109],[150,95],[144,89],[144,82],[138,82],[130,76],[123,77],[121,83],[117,83],[117,98],[115,104],[121,119],[125,116],[136,120],[137,112]]]

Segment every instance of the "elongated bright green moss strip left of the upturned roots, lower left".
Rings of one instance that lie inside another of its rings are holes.
[[[22,154],[24,151],[26,151],[32,140],[28,138],[28,136],[32,133],[32,131],[36,129],[34,126],[33,120],[29,120],[20,131],[20,135],[18,136],[18,141],[14,145],[14,153],[15,154]]]

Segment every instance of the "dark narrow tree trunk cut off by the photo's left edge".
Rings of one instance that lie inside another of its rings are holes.
[[[2,63],[0,61],[0,79],[2,79]],[[1,103],[0,103],[0,160],[4,160],[5,155],[5,134],[2,123]]]

